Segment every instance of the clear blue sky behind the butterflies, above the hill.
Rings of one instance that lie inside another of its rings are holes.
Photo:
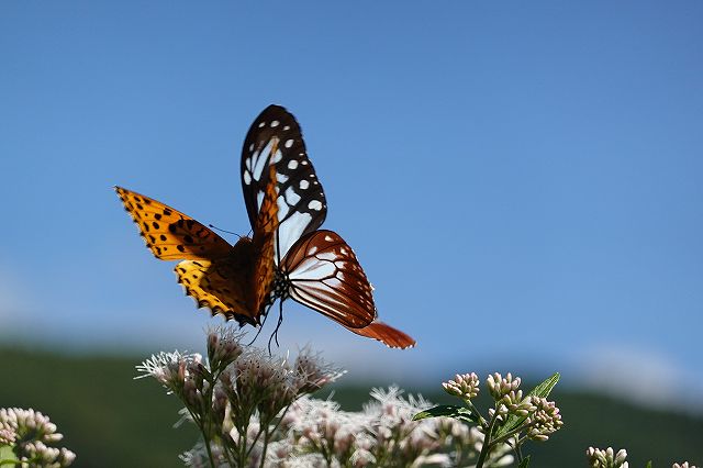
[[[279,103],[324,227],[419,342],[288,304],[284,347],[398,379],[701,375],[701,20],[699,1],[2,2],[0,336],[202,342],[220,321],[111,187],[246,234],[242,141]]]

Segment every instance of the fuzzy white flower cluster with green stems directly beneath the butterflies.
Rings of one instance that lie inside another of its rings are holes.
[[[303,348],[294,361],[244,347],[243,335],[223,326],[208,334],[208,363],[197,354],[160,353],[137,366],[186,406],[186,420],[204,443],[183,455],[190,466],[258,466],[276,453],[277,427],[298,399],[336,380],[342,372]],[[278,437],[280,438],[280,437]],[[269,450],[269,445],[271,450]]]

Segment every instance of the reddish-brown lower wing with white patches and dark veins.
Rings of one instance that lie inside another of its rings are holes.
[[[281,261],[287,293],[301,304],[350,328],[376,319],[371,285],[352,247],[332,231],[301,237]]]

